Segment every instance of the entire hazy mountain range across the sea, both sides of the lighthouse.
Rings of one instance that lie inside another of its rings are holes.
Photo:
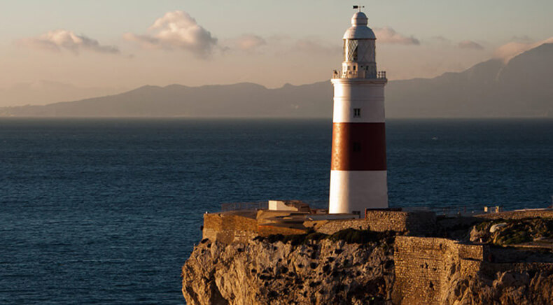
[[[553,44],[431,79],[395,80],[386,87],[388,118],[553,117]],[[267,89],[252,83],[144,86],[107,97],[0,108],[2,116],[330,118],[330,81]]]

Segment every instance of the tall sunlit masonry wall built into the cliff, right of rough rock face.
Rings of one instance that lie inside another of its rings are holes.
[[[394,304],[441,304],[451,275],[476,276],[485,246],[451,239],[396,236]]]

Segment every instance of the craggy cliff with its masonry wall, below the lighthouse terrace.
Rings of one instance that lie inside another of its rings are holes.
[[[357,229],[204,239],[182,291],[188,304],[553,304],[552,262],[545,249]]]

